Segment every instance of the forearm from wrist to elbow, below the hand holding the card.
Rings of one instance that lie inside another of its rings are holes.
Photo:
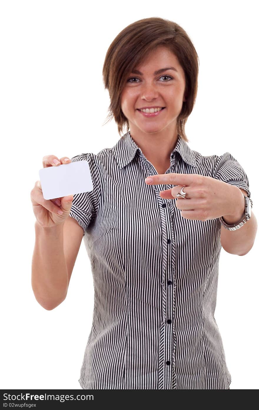
[[[35,223],[32,289],[38,303],[47,310],[65,299],[68,270],[63,249],[63,225],[41,228]]]

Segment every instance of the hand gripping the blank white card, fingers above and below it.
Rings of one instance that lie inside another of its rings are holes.
[[[68,159],[68,161],[65,162],[65,159]],[[54,160],[59,161],[60,164],[55,164],[53,162]],[[62,157],[59,159],[58,157],[55,157],[55,155],[45,155],[42,159],[43,168],[69,164],[70,162],[68,157]],[[33,212],[38,223],[43,228],[51,228],[55,225],[64,223],[65,219],[70,214],[73,199],[73,195],[54,199],[44,199],[41,189],[41,181],[36,181],[34,188],[31,191]],[[58,211],[62,211],[63,213],[60,215],[57,213]]]

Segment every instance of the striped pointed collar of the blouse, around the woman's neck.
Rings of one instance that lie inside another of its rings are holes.
[[[132,139],[130,131],[126,132],[126,134],[124,134],[112,148],[115,161],[120,169],[124,168],[124,166],[128,165],[128,163],[133,160],[137,151],[139,151],[140,155],[143,155],[140,147],[137,146],[135,141]],[[176,147],[171,152],[171,157],[175,151],[180,154],[183,161],[187,164],[194,166],[195,168],[197,167],[196,157],[193,150],[189,148],[188,144],[180,137],[179,134]],[[170,162],[172,161],[171,157]]]

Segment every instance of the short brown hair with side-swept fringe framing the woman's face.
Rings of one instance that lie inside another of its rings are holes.
[[[191,39],[178,24],[160,17],[143,18],[124,28],[108,48],[103,66],[103,81],[110,95],[109,114],[113,117],[122,136],[124,125],[129,130],[128,120],[121,109],[121,94],[127,76],[158,46],[169,48],[176,55],[185,73],[185,98],[177,118],[177,132],[185,135],[185,123],[195,104],[198,90],[199,58]],[[105,122],[105,123],[106,123]]]

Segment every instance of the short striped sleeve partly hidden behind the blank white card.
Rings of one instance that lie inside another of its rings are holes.
[[[71,158],[71,162],[76,161],[88,161],[90,174],[92,178],[93,190],[90,192],[82,192],[80,194],[74,194],[73,202],[70,210],[69,216],[76,219],[79,225],[83,228],[83,235],[86,233],[86,229],[88,225],[95,217],[95,182],[94,182],[94,175],[95,172],[93,171],[94,162],[92,153],[86,153],[77,155]]]

